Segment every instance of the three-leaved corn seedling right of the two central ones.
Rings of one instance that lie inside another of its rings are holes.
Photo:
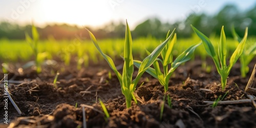
[[[243,49],[247,39],[248,28],[245,29],[244,37],[241,40],[240,44],[238,45],[237,49],[231,55],[231,58],[229,60],[229,65],[227,66],[227,63],[226,63],[227,46],[226,46],[226,36],[224,32],[224,26],[221,29],[221,37],[220,37],[220,43],[218,47],[218,54],[215,52],[214,46],[211,44],[210,39],[207,36],[205,36],[203,33],[201,33],[199,30],[197,30],[194,26],[191,25],[191,27],[193,28],[195,33],[202,39],[206,52],[214,60],[217,71],[221,76],[222,90],[224,90],[227,84],[227,77],[229,75],[231,68],[237,62],[240,55],[243,53]]]

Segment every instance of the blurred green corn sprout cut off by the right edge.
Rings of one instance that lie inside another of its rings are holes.
[[[241,42],[241,37],[239,37],[239,35],[237,34],[236,30],[234,30],[234,27],[232,27],[232,35],[234,37],[235,40],[237,40],[238,42]],[[246,47],[246,46],[245,46]],[[249,48],[247,48],[249,47]],[[239,60],[240,60],[240,72],[241,72],[241,76],[243,78],[246,77],[246,74],[249,72],[249,63],[251,62],[251,60],[255,57],[256,55],[256,45],[247,45],[247,47],[245,48],[245,50],[243,51],[243,53],[241,54]]]

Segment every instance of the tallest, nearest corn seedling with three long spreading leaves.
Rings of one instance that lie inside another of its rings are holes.
[[[124,41],[124,56],[123,56],[124,65],[123,65],[122,75],[117,71],[112,58],[109,57],[108,55],[105,55],[101,51],[95,36],[89,30],[88,32],[97,50],[100,52],[103,58],[109,63],[111,69],[117,75],[117,78],[121,85],[122,94],[125,96],[126,106],[127,108],[130,108],[132,98],[134,97],[133,93],[139,82],[140,77],[155,62],[155,60],[161,54],[164,47],[167,45],[170,38],[173,36],[173,33],[170,34],[169,37],[164,42],[162,42],[162,44],[160,44],[150,55],[148,55],[141,62],[137,76],[135,77],[135,79],[132,79],[133,72],[134,72],[134,61],[133,61],[133,55],[132,55],[132,36],[131,36],[130,28],[127,24],[127,21],[126,21],[126,31],[125,31],[125,41]]]

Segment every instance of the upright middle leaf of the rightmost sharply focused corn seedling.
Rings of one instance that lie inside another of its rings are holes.
[[[221,29],[221,39],[219,44],[219,57],[221,62],[221,69],[226,68],[226,55],[227,55],[227,45],[226,45],[226,35],[224,32],[224,26]]]

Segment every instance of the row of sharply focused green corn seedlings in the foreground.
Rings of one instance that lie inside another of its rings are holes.
[[[126,22],[125,41],[124,41],[124,50],[123,50],[124,65],[123,65],[122,74],[118,72],[113,59],[110,56],[106,55],[101,50],[93,33],[91,33],[88,30],[90,37],[93,41],[93,44],[95,45],[95,47],[97,48],[101,56],[109,63],[109,66],[118,77],[122,94],[125,96],[125,99],[126,99],[127,108],[131,107],[132,99],[134,99],[134,101],[136,102],[134,91],[136,89],[136,86],[138,84],[140,77],[144,72],[147,72],[153,77],[157,78],[159,82],[162,84],[162,86],[164,86],[164,92],[166,92],[168,89],[170,76],[182,63],[190,60],[194,55],[195,49],[202,44],[205,48],[204,51],[206,51],[206,53],[213,59],[216,65],[217,71],[221,76],[222,90],[225,89],[226,83],[227,83],[227,77],[231,71],[231,68],[237,62],[239,57],[243,55],[243,57],[248,59],[248,56],[245,54],[245,52],[243,52],[245,42],[247,39],[248,28],[245,29],[245,34],[242,39],[236,34],[236,31],[233,30],[233,35],[236,38],[236,41],[238,42],[240,41],[240,42],[236,50],[234,50],[234,52],[232,53],[229,62],[227,63],[226,61],[227,44],[226,44],[224,27],[222,27],[221,29],[221,36],[220,36],[220,41],[218,43],[217,53],[210,39],[207,36],[205,36],[203,33],[201,33],[199,30],[197,30],[195,27],[193,26],[191,27],[193,28],[195,33],[198,35],[198,37],[202,41],[199,42],[198,44],[190,45],[186,50],[184,50],[181,54],[179,54],[175,60],[173,57],[174,56],[173,48],[177,40],[177,35],[174,29],[172,33],[170,34],[169,32],[167,33],[166,40],[161,42],[161,44],[159,44],[152,52],[148,52],[146,50],[148,56],[143,58],[142,61],[139,61],[139,60],[133,59],[132,35],[130,32],[129,25]],[[256,47],[255,48],[252,47],[253,51],[255,51],[255,49]],[[160,67],[159,62],[161,63],[162,67]],[[244,64],[244,63],[241,63],[241,64]],[[153,68],[151,67],[152,65],[153,65]],[[134,66],[136,66],[139,69],[139,71],[137,76],[133,79],[132,76],[134,73]],[[163,69],[163,73],[161,69]],[[246,72],[246,71],[243,71],[243,72]],[[167,100],[169,101],[170,100],[169,97],[167,98],[168,98]]]

